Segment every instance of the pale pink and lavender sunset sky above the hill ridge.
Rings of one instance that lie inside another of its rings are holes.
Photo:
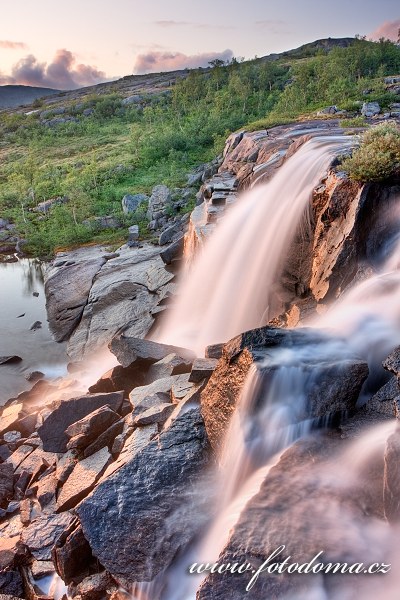
[[[400,28],[399,0],[0,0],[0,15],[0,84],[57,89]]]

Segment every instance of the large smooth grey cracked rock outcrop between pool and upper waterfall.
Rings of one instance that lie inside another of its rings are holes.
[[[99,247],[57,255],[46,273],[49,324],[57,341],[68,339],[73,360],[107,345],[118,333],[144,337],[160,302],[174,292],[155,246]]]

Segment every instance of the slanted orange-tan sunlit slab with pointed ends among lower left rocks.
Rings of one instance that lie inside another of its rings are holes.
[[[57,511],[62,512],[76,506],[93,489],[110,460],[111,455],[108,449],[102,448],[88,458],[79,461],[57,498]]]

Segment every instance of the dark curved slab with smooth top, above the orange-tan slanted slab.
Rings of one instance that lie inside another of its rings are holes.
[[[106,405],[118,412],[122,401],[123,392],[114,392],[111,394],[88,394],[59,402],[38,429],[44,450],[65,452],[68,443],[66,430],[72,423],[76,423],[94,410]]]

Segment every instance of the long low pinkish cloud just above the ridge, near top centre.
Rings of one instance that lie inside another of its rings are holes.
[[[198,67],[207,67],[208,63],[216,58],[229,61],[232,57],[233,52],[228,49],[223,52],[204,52],[193,55],[182,52],[147,52],[137,56],[134,72],[141,74],[177,71],[186,68],[197,69]]]

